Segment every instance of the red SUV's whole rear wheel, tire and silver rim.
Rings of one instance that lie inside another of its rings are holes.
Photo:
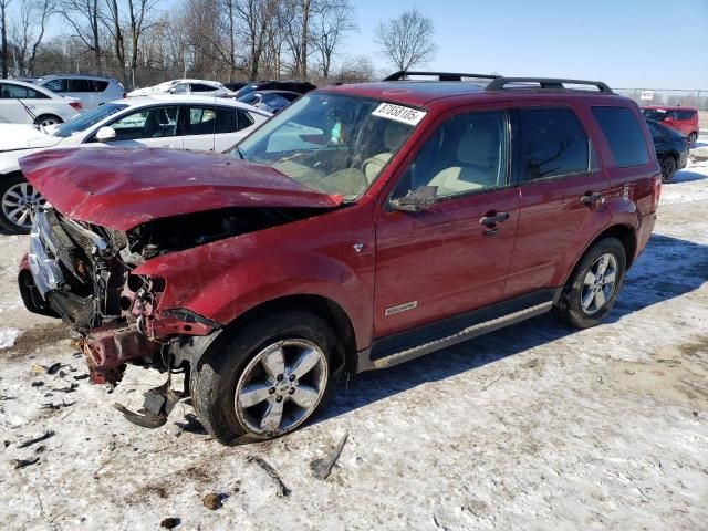
[[[618,239],[600,240],[573,270],[553,314],[575,329],[600,324],[617,300],[626,264],[626,252]]]

